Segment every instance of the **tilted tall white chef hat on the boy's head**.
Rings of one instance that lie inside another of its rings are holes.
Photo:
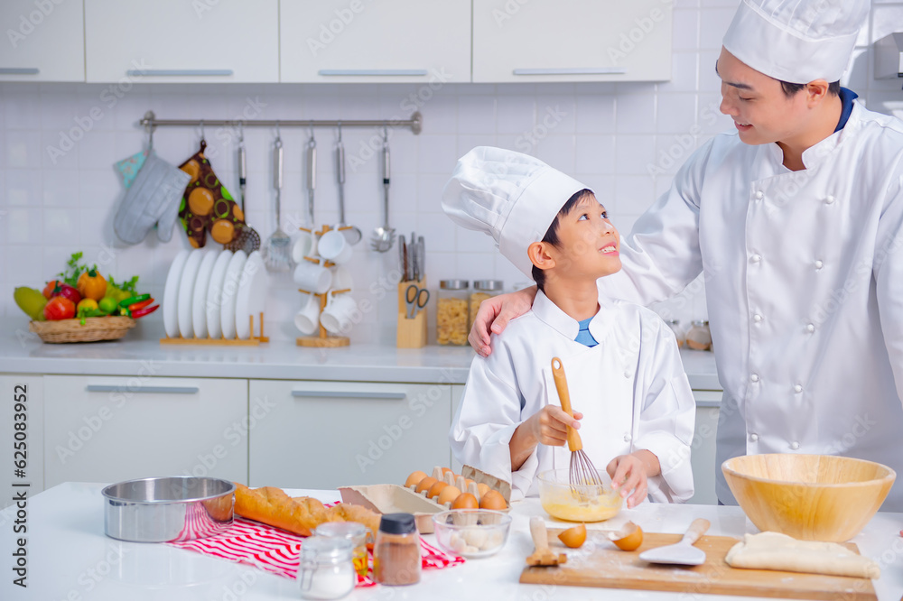
[[[458,160],[442,191],[442,209],[459,226],[492,236],[501,254],[533,277],[526,249],[585,188],[528,154],[478,146]]]

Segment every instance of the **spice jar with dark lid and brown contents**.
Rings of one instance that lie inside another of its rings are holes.
[[[410,513],[386,513],[373,546],[373,578],[384,585],[420,582],[420,535]]]

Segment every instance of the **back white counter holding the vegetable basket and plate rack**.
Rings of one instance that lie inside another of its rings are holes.
[[[296,347],[272,341],[259,347],[161,345],[156,322],[139,323],[122,340],[44,344],[27,318],[0,319],[0,373],[134,375],[153,366],[159,376],[464,384],[470,347],[396,348],[355,345]],[[694,390],[721,390],[715,360],[706,351],[681,352]]]

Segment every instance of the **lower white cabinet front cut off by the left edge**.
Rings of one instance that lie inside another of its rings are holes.
[[[43,431],[42,376],[0,375],[0,508],[44,490]]]

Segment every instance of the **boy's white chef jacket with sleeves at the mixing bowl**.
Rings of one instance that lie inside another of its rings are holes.
[[[512,498],[538,494],[535,476],[567,468],[571,451],[539,445],[516,472],[508,443],[546,404],[560,406],[552,358],[562,360],[574,411],[583,413],[583,450],[604,471],[612,458],[645,448],[662,474],[649,478],[653,501],[693,496],[690,443],[695,403],[674,334],[659,317],[624,301],[600,298],[590,321],[599,344],[574,340],[579,325],[538,292],[533,310],[495,337],[492,355],[470,365],[449,439],[461,463],[510,482]]]

